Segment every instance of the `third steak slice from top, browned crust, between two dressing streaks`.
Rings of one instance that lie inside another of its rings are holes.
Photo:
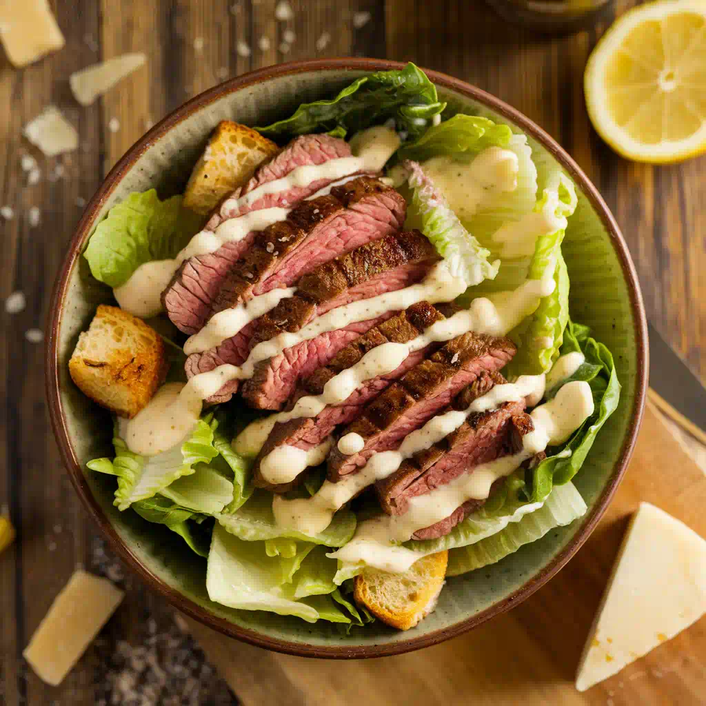
[[[213,370],[224,363],[242,364],[252,347],[287,331],[295,333],[317,316],[337,306],[369,299],[419,282],[438,260],[436,249],[419,232],[406,232],[366,243],[363,246],[319,265],[299,280],[297,295],[283,299],[275,309],[247,325],[220,346],[189,356],[189,377]],[[266,378],[263,378],[266,379]],[[225,402],[238,388],[238,381],[224,385],[209,402]],[[277,409],[292,393],[283,390],[256,390],[254,404],[273,404]],[[273,407],[263,407],[272,409]]]

